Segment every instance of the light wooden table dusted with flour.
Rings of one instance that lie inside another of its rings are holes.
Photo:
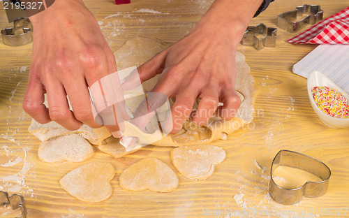
[[[85,1],[100,22],[112,50],[135,36],[156,37],[174,43],[198,21],[209,0],[132,0],[114,6],[112,0]],[[276,27],[277,15],[303,3],[319,4],[328,17],[348,6],[343,0],[276,0],[251,24]],[[141,13],[141,8],[161,13]],[[114,15],[112,17],[108,17]],[[8,27],[4,10],[0,10],[0,27]],[[50,165],[37,157],[40,141],[27,131],[31,118],[22,110],[31,64],[31,44],[9,47],[0,43],[0,189],[24,195],[28,217],[282,217],[258,215],[267,210],[288,213],[313,212],[330,208],[329,217],[349,217],[341,208],[349,207],[349,129],[330,129],[312,110],[306,92],[306,79],[292,73],[292,65],[311,52],[316,45],[290,45],[286,38],[295,34],[278,29],[276,48],[255,50],[239,45],[251,66],[258,89],[255,118],[243,129],[212,145],[223,147],[227,158],[216,167],[214,175],[203,181],[188,180],[179,173],[179,187],[166,194],[151,191],[131,192],[119,187],[118,177],[131,163],[144,157],[157,157],[168,163],[169,147],[148,146],[121,159],[96,151],[88,162],[112,163],[116,176],[112,196],[101,203],[84,203],[61,189],[59,180],[68,171],[85,163]],[[17,144],[9,143],[7,139]],[[6,147],[8,146],[8,147]],[[329,189],[320,198],[305,198],[301,203],[284,206],[275,203],[267,191],[272,159],[281,149],[295,150],[327,163],[332,170]],[[24,161],[21,161],[24,160]],[[6,164],[5,164],[6,165]],[[11,164],[10,164],[11,165]],[[22,170],[21,170],[22,169]],[[176,171],[177,172],[177,171]],[[209,212],[220,215],[208,216]],[[251,214],[243,214],[250,210]],[[255,213],[253,213],[253,211]],[[224,212],[224,214],[223,214]],[[322,217],[322,215],[320,216]]]

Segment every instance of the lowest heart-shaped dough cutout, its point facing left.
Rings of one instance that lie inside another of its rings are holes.
[[[114,167],[110,163],[87,163],[70,171],[59,180],[62,189],[86,202],[100,202],[112,194],[110,180]]]

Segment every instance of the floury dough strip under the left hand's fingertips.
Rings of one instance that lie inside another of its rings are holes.
[[[28,130],[29,133],[36,136],[36,138],[40,139],[42,142],[57,136],[78,133],[80,136],[86,138],[92,145],[101,145],[105,138],[112,135],[105,126],[98,129],[92,129],[91,127],[83,124],[80,129],[69,131],[68,129],[65,129],[59,125],[57,122],[51,121],[47,124],[39,124],[35,119],[31,120]]]

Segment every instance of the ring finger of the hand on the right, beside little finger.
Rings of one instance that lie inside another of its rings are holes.
[[[207,124],[209,118],[216,112],[218,107],[218,91],[213,87],[207,88],[200,97],[198,108],[191,114],[191,121],[198,126]]]

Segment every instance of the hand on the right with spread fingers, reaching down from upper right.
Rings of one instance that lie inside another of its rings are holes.
[[[138,69],[142,81],[161,73],[152,92],[176,97],[172,133],[185,120],[202,126],[216,113],[231,119],[240,106],[235,93],[235,54],[261,0],[216,0],[190,34]],[[201,99],[192,112],[195,99]],[[218,107],[218,102],[223,106]]]

